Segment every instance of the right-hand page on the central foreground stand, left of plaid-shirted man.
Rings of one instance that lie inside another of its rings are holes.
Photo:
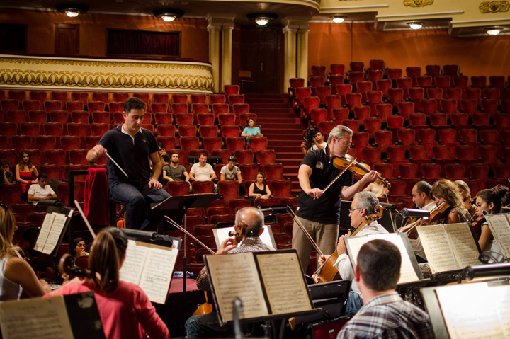
[[[271,314],[312,309],[307,286],[296,253],[255,255],[263,285],[271,306]]]

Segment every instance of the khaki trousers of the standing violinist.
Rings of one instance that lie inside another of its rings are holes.
[[[336,241],[339,235],[338,224],[322,224],[321,222],[310,222],[310,220],[297,217],[301,224],[305,226],[308,234],[314,239],[317,246],[325,255],[330,255],[336,251]],[[310,255],[312,254],[312,243],[308,240],[307,236],[301,231],[300,226],[294,222],[293,226],[293,245],[292,248],[297,250],[297,255],[300,258],[301,268],[303,273],[307,274],[308,264],[310,263]],[[319,260],[317,253],[316,260]],[[318,263],[317,263],[318,265]],[[310,274],[314,272],[309,272]]]

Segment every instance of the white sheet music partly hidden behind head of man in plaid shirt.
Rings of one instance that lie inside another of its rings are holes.
[[[398,284],[404,284],[405,282],[415,282],[419,280],[418,276],[416,275],[416,272],[414,271],[411,259],[409,258],[409,253],[407,253],[407,250],[405,248],[404,241],[402,241],[402,238],[395,233],[371,234],[370,236],[348,237],[347,241],[351,249],[351,252],[349,252],[348,254],[353,255],[354,263],[356,263],[357,261],[358,253],[359,250],[361,249],[361,246],[363,246],[365,243],[368,243],[368,241],[375,239],[390,241],[399,249],[400,255],[402,257],[402,265],[400,266],[400,279],[397,282]]]

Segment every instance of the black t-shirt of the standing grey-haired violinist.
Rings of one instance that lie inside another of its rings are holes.
[[[333,166],[326,151],[327,148],[310,151],[305,156],[305,159],[301,161],[301,165],[307,165],[312,168],[312,175],[310,176],[311,188],[324,190],[340,173],[340,170]],[[342,186],[351,186],[353,183],[353,173],[346,171],[317,200],[314,200],[313,197],[310,197],[305,191],[301,190],[300,195],[297,197],[296,215],[311,222],[339,224],[341,188]]]

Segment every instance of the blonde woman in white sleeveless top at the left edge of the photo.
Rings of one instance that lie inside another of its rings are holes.
[[[38,280],[30,265],[18,258],[20,248],[13,245],[16,222],[11,209],[0,203],[0,302],[20,297],[42,297],[50,292],[44,280]]]

